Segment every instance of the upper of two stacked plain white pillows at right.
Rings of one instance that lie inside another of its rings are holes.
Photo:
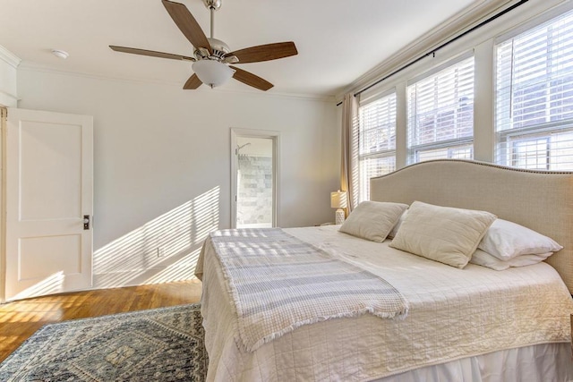
[[[493,222],[477,246],[500,260],[521,255],[539,255],[556,252],[561,247],[552,238],[503,219]]]

